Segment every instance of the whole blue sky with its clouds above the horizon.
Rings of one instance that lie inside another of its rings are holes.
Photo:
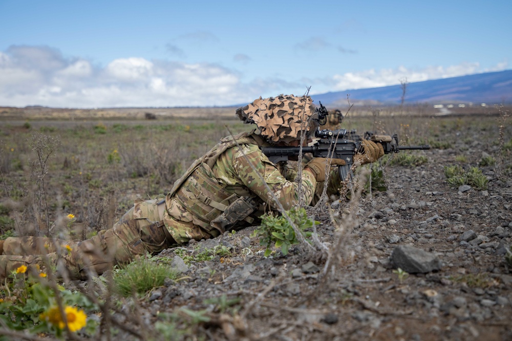
[[[212,106],[510,69],[510,1],[0,0],[0,106]]]

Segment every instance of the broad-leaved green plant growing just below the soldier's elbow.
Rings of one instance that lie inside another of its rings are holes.
[[[304,237],[311,236],[311,232],[306,232],[306,230],[312,228],[313,223],[317,224],[318,222],[313,222],[308,218],[304,208],[292,208],[286,213]],[[253,235],[261,236],[260,245],[266,246],[265,257],[272,253],[271,244],[274,244],[276,248],[281,247],[281,252],[286,256],[290,246],[299,243],[295,231],[284,216],[276,217],[269,213],[261,216],[261,219],[260,228],[255,230]]]

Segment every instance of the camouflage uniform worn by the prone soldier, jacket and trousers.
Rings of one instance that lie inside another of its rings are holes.
[[[284,209],[293,207],[298,185],[283,177],[261,152],[259,146],[267,145],[265,140],[254,131],[241,133],[235,140],[240,147],[232,138],[224,138],[194,162],[165,199],[136,200],[112,229],[91,239],[7,238],[0,256],[0,278],[20,265],[44,268],[50,264],[60,274],[67,269],[71,279],[85,279],[88,272],[101,274],[146,252],[158,253],[175,243],[216,237],[253,224],[265,204],[276,209],[270,192]],[[303,172],[304,202],[311,202],[315,186],[314,176]]]

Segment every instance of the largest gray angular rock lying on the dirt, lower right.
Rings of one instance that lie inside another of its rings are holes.
[[[409,274],[426,274],[441,269],[441,261],[434,254],[411,245],[395,247],[390,258],[395,268],[401,268]]]

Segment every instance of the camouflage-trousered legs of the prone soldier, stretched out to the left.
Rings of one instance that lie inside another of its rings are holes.
[[[71,279],[86,279],[88,274],[102,274],[113,265],[129,263],[137,255],[162,251],[172,243],[166,236],[156,200],[138,201],[112,229],[100,231],[82,242],[44,237],[7,238],[4,255],[0,256],[0,278],[20,265],[38,264],[44,268],[46,258],[60,271],[58,264],[63,263]]]

